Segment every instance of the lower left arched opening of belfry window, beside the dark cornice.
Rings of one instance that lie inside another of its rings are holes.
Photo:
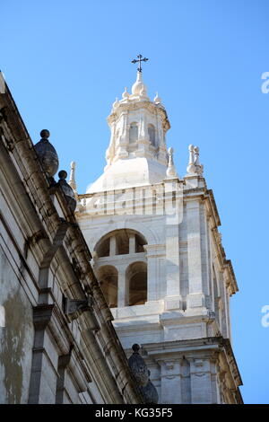
[[[98,269],[97,277],[109,308],[117,308],[117,269],[104,265]]]

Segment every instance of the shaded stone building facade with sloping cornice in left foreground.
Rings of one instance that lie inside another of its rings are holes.
[[[5,88],[0,93],[0,403],[141,403],[65,192],[39,163]],[[76,308],[81,304],[83,312]]]

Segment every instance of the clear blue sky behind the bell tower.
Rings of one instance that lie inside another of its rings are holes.
[[[76,162],[79,193],[106,164],[106,118],[134,84],[131,60],[149,57],[143,81],[168,112],[178,173],[199,145],[221,216],[245,403],[269,403],[268,13],[266,0],[0,0],[0,69],[33,143],[47,128],[59,170]]]

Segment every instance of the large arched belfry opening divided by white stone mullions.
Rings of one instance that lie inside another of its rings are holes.
[[[128,228],[113,230],[96,243],[94,271],[110,308],[147,301],[146,244],[142,233]]]

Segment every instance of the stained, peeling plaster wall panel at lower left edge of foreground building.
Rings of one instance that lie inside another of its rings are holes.
[[[0,248],[0,403],[27,403],[33,344],[32,310],[20,280]]]

